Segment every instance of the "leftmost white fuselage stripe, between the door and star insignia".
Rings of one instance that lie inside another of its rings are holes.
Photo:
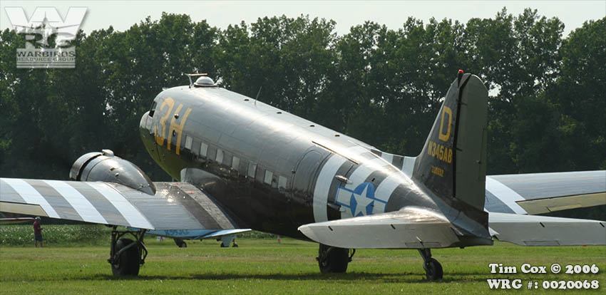
[[[338,154],[333,154],[332,157],[324,164],[322,171],[316,180],[316,188],[314,189],[314,219],[316,222],[328,221],[327,202],[328,191],[330,184],[337,174],[339,167],[345,162],[345,158]]]

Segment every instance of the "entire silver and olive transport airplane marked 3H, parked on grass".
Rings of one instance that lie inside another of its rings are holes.
[[[145,148],[180,182],[152,182],[103,150],[78,158],[72,181],[1,178],[0,212],[113,226],[116,275],[138,274],[148,230],[311,239],[322,272],[346,271],[354,249],[418,249],[428,279],[443,276],[432,248],[606,244],[606,222],[533,215],[605,204],[605,171],[486,176],[488,91],[477,76],[458,74],[417,157],[189,78],[140,120]]]

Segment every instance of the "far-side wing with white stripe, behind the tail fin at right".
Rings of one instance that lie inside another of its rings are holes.
[[[606,205],[606,170],[486,176],[488,212],[542,214]]]

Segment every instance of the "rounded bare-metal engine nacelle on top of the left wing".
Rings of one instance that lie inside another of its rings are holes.
[[[113,155],[111,150],[88,152],[73,162],[69,178],[77,181],[115,182],[155,195],[155,185],[137,165]]]

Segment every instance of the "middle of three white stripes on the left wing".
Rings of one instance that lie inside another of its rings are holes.
[[[88,202],[86,197],[71,185],[68,185],[67,182],[59,180],[43,180],[43,182],[46,182],[46,184],[50,185],[61,194],[69,205],[80,214],[84,221],[108,224],[106,219],[101,216],[101,213],[97,211],[91,202]]]

